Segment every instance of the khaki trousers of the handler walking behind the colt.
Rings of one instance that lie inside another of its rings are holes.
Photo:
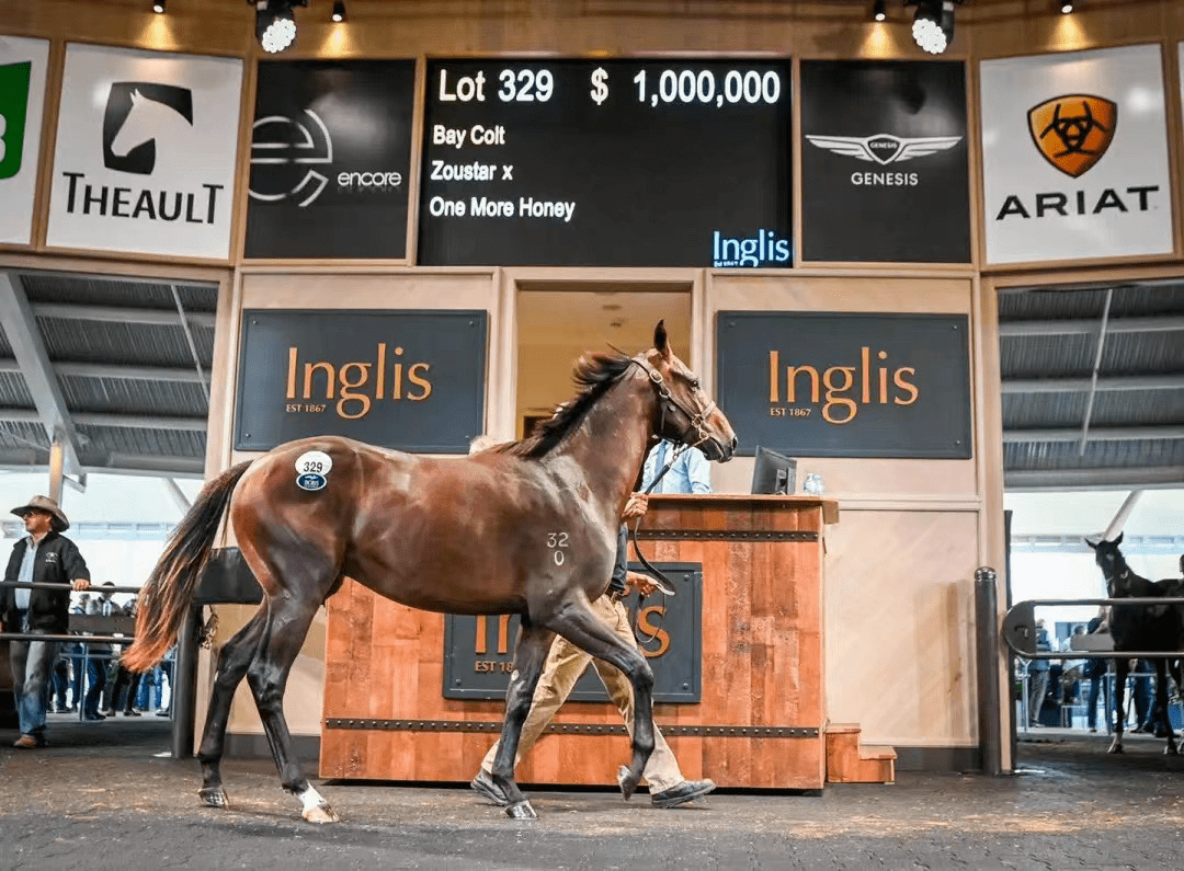
[[[603,595],[592,602],[592,609],[597,617],[604,620],[609,627],[623,640],[637,646],[633,637],[633,627],[629,625],[629,612],[619,601],[612,601],[607,595]],[[534,690],[534,698],[530,701],[530,712],[522,724],[522,735],[519,738],[517,756],[514,760],[515,768],[522,761],[522,756],[529,753],[542,733],[551,724],[555,714],[575,686],[588,660],[596,667],[600,683],[609,691],[609,697],[617,705],[620,716],[625,718],[625,728],[629,734],[633,734],[633,686],[616,666],[594,659],[591,653],[573,645],[566,638],[555,637],[547,653],[547,662],[542,666],[542,676],[539,685]],[[500,742],[498,742],[500,743]],[[497,755],[497,744],[489,748],[485,759],[481,761],[481,767],[487,773],[494,770],[494,757]],[[662,733],[658,731],[657,723],[654,724],[654,753],[650,754],[643,772],[651,793],[664,792],[678,786],[683,781],[682,772],[678,769],[678,761],[667,744]]]

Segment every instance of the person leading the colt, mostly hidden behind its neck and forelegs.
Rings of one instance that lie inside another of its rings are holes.
[[[633,493],[625,503],[622,520],[641,517],[649,508],[649,499],[643,493]],[[629,572],[628,541],[625,525],[622,524],[617,537],[617,564],[612,570],[612,580],[604,595],[592,602],[592,609],[604,620],[622,639],[628,640],[635,647],[637,638],[633,635],[633,627],[629,622],[629,612],[622,604],[622,599],[629,593],[629,587],[637,587],[641,594],[649,595],[655,591],[650,579],[637,572]],[[633,689],[620,671],[612,665],[592,657],[591,653],[577,647],[561,635],[555,635],[547,654],[547,662],[539,678],[539,685],[534,690],[530,701],[530,712],[526,722],[522,723],[522,734],[519,737],[517,757],[514,760],[515,767],[522,756],[534,747],[542,733],[551,724],[552,718],[559,712],[564,702],[571,695],[575,682],[579,680],[588,662],[596,667],[600,683],[609,691],[609,697],[617,705],[620,716],[625,718],[625,725],[631,727],[633,722]],[[506,795],[493,780],[494,759],[497,756],[497,743],[489,748],[489,753],[481,761],[481,769],[477,776],[469,785],[474,792],[493,801],[495,805],[506,807],[509,802]],[[665,738],[654,724],[654,753],[650,754],[645,763],[645,782],[650,787],[650,802],[655,807],[676,807],[688,801],[707,795],[715,788],[710,780],[687,780],[678,768],[678,760],[667,744]]]

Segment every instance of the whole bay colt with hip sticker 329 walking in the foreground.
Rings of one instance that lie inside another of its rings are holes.
[[[144,585],[135,643],[123,658],[143,671],[168,651],[229,504],[229,523],[265,595],[218,656],[198,751],[206,804],[227,802],[223,742],[245,675],[284,788],[301,800],[304,819],[336,821],[292,753],[283,696],[313,615],[346,578],[426,611],[521,615],[493,772],[510,817],[535,817],[514,782],[514,757],[555,633],[632,683],[632,757],[618,781],[626,799],[633,793],[654,749],[654,673],[590,602],[607,587],[620,514],[655,438],[694,445],[720,462],[732,458],[736,438],[670,350],[662,323],[650,350],[585,355],[574,378],[581,392],[525,441],[438,459],[311,438],[281,445],[206,485]],[[297,464],[310,452],[329,460],[303,460],[326,472],[327,484],[316,491],[296,484]]]

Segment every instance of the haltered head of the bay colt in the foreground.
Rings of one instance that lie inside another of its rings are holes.
[[[658,393],[655,433],[674,443],[697,447],[703,454],[727,463],[736,450],[732,424],[707,398],[699,376],[670,349],[665,322],[654,328],[654,347],[633,360],[645,369]]]

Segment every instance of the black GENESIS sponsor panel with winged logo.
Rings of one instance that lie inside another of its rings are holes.
[[[950,60],[802,62],[804,260],[970,262],[966,70]],[[881,164],[828,151],[812,136],[961,136],[953,148]],[[861,186],[852,173],[916,173]]]

